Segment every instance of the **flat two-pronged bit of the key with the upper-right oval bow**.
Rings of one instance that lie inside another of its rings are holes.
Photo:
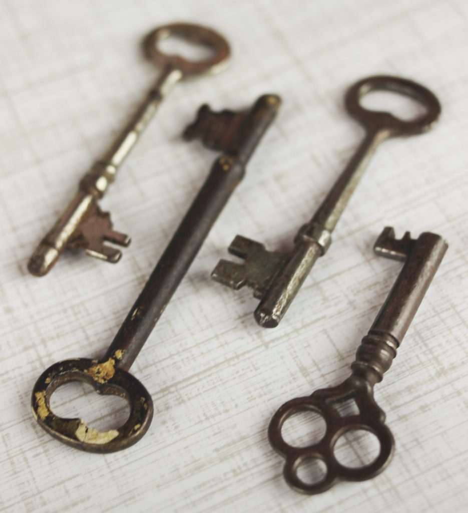
[[[286,259],[284,253],[267,251],[263,244],[241,235],[237,235],[231,243],[229,252],[244,259],[245,263],[220,260],[211,273],[212,278],[235,290],[248,285],[258,299],[270,288]]]

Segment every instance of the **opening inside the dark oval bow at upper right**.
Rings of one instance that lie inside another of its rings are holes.
[[[390,112],[397,119],[415,121],[426,115],[429,110],[417,98],[401,92],[374,89],[359,98],[364,109],[377,112]]]

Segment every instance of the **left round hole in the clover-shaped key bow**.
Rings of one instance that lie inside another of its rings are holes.
[[[281,427],[283,440],[292,447],[315,445],[324,437],[327,423],[325,419],[312,410],[293,413]]]

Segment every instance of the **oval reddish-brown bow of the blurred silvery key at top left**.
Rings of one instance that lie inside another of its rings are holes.
[[[168,55],[162,52],[158,45],[171,35],[210,48],[213,55],[201,61],[189,61],[177,54]],[[231,55],[231,49],[224,37],[212,29],[190,23],[173,23],[158,27],[146,37],[145,48],[148,56],[158,66],[178,69],[186,76],[217,73],[228,64]]]

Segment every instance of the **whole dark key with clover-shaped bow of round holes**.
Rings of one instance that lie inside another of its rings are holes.
[[[383,373],[392,365],[446,249],[445,241],[435,233],[422,233],[416,240],[410,238],[409,232],[396,240],[393,228],[385,228],[380,234],[374,251],[382,257],[404,261],[404,265],[371,329],[362,339],[356,360],[351,365],[351,376],[338,386],[316,390],[312,396],[284,403],[270,422],[270,443],[286,459],[284,479],[295,490],[318,494],[339,479],[363,481],[373,478],[390,463],[395,442],[384,424],[385,413],[374,400],[374,385],[382,381]],[[349,401],[355,402],[359,413],[341,416],[339,406]],[[294,447],[284,441],[281,428],[289,417],[303,411],[321,415],[327,428],[318,443]],[[334,447],[344,433],[356,430],[373,433],[380,443],[380,452],[370,464],[352,468],[338,462]],[[325,464],[327,470],[321,481],[304,483],[298,477],[298,467],[307,460]]]

